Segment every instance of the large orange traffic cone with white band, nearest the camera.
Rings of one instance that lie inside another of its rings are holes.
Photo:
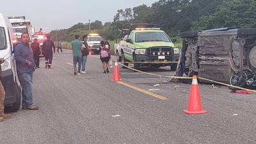
[[[184,110],[184,113],[189,115],[207,113],[207,111],[205,111],[202,107],[197,76],[193,76],[189,93],[188,109]]]

